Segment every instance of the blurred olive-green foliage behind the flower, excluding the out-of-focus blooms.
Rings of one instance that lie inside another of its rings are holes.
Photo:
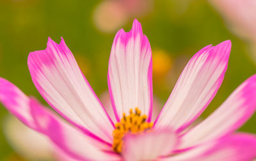
[[[29,52],[43,50],[48,36],[56,42],[60,42],[63,36],[75,57],[79,58],[79,64],[89,66],[90,71],[84,74],[96,94],[107,90],[108,57],[115,33],[104,34],[93,25],[92,13],[99,3],[82,0],[1,0],[0,76],[46,104],[31,81],[27,57]],[[138,19],[152,49],[163,49],[171,54],[172,59],[179,55],[191,57],[203,46],[231,39],[232,52],[225,80],[203,117],[214,111],[246,78],[256,73],[246,43],[228,31],[221,16],[207,1],[155,1],[154,11]],[[125,31],[131,25],[132,19],[124,26]],[[161,101],[166,101],[173,85],[166,85],[166,88],[157,88],[156,83],[153,85],[154,94]],[[6,115],[8,111],[1,106],[0,160],[12,153],[2,132]],[[254,115],[241,130],[256,133],[255,118]]]

